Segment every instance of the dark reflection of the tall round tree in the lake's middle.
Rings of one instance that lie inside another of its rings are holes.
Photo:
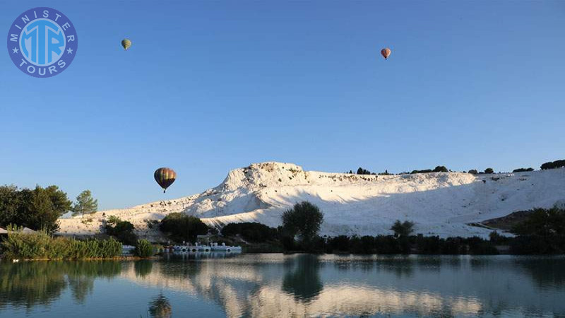
[[[295,296],[297,300],[314,299],[321,290],[319,274],[320,261],[317,255],[304,254],[296,258],[294,271],[287,271],[283,280],[283,290]]]

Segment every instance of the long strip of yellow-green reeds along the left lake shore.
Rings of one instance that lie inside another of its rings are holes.
[[[51,237],[47,232],[25,234],[8,228],[8,237],[1,244],[4,254],[12,259],[93,259],[121,255],[117,240],[75,240]]]

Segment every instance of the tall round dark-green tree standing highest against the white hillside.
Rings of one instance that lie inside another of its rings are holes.
[[[295,204],[283,213],[283,230],[292,237],[298,235],[302,242],[311,242],[323,223],[320,208],[308,201]]]

